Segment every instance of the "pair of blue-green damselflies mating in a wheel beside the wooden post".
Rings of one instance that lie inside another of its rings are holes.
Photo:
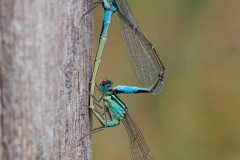
[[[154,46],[145,38],[137,26],[126,0],[100,0],[95,4],[96,6],[102,4],[104,15],[98,51],[90,82],[89,108],[102,124],[102,128],[113,127],[119,125],[120,121],[123,122],[131,141],[131,158],[133,160],[155,159],[150,153],[139,128],[130,117],[127,106],[117,94],[160,93],[164,85],[165,67],[158,57]],[[129,53],[128,58],[136,76],[144,87],[116,86],[112,88],[112,82],[106,80],[97,87],[102,93],[100,99],[97,100],[94,97],[95,81],[113,13],[121,20],[122,34]],[[100,104],[99,102],[102,103]]]

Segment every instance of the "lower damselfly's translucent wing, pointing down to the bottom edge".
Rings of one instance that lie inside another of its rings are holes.
[[[130,139],[130,151],[132,160],[155,160],[145,142],[141,131],[133,121],[129,113],[122,120]]]

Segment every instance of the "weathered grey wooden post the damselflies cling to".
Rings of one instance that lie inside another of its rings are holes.
[[[1,160],[91,159],[91,4],[0,1]]]

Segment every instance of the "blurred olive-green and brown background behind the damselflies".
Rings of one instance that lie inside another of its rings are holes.
[[[163,92],[121,95],[158,160],[240,159],[240,1],[128,0],[167,72]],[[103,9],[95,11],[95,51]],[[97,83],[140,85],[113,16]],[[94,126],[100,124],[94,119]],[[93,135],[94,160],[130,160],[122,124]]]

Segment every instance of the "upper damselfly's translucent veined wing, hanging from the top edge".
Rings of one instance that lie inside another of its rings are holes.
[[[163,77],[165,67],[158,57],[154,46],[145,38],[125,0],[113,0],[117,14],[121,18],[122,35],[127,46],[128,56],[139,81],[146,87],[152,87],[159,75]],[[159,83],[154,94],[160,93],[163,83]]]

